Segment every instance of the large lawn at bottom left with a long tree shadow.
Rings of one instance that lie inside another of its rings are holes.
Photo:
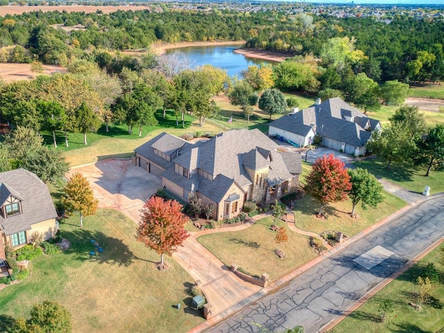
[[[136,225],[115,210],[99,210],[78,227],[78,216],[61,224],[71,247],[38,257],[20,284],[0,291],[0,321],[27,317],[42,300],[56,300],[72,315],[73,332],[186,332],[204,321],[189,307],[185,291],[194,280],[170,257],[160,257],[135,240]],[[89,256],[90,240],[103,253]],[[173,307],[180,302],[182,310]],[[0,332],[8,331],[0,325]]]

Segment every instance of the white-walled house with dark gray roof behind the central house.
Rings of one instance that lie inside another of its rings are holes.
[[[270,123],[269,135],[280,135],[298,146],[309,146],[315,135],[322,145],[350,155],[364,155],[366,144],[374,130],[380,130],[377,119],[368,118],[339,97],[314,105],[296,113],[280,117]]]

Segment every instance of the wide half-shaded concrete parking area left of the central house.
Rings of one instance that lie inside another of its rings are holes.
[[[162,185],[162,180],[136,167],[131,160],[105,160],[74,167],[67,176],[75,172],[89,180],[99,207],[119,210],[136,223],[146,199]]]

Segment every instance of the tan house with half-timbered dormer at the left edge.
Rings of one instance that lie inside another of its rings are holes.
[[[19,248],[31,242],[31,234],[44,239],[56,234],[56,208],[48,187],[34,173],[16,169],[0,173],[0,266],[5,246]]]

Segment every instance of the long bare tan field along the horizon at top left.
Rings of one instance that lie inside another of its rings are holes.
[[[23,12],[37,12],[42,10],[42,12],[62,12],[66,10],[67,12],[96,12],[96,10],[101,10],[104,14],[110,12],[117,12],[117,10],[151,10],[149,6],[0,6],[0,16],[19,15]]]

